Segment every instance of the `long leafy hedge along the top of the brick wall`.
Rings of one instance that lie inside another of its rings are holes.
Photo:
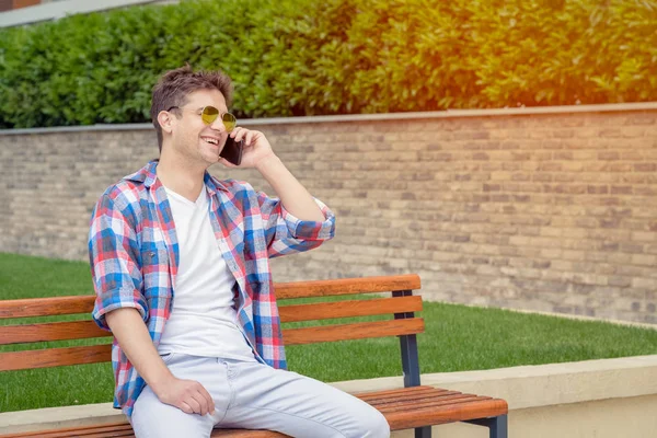
[[[239,117],[657,100],[649,0],[188,0],[0,31],[0,127],[149,122],[163,71]]]

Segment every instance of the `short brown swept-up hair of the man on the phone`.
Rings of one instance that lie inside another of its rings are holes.
[[[232,82],[221,71],[197,71],[194,72],[189,65],[170,70],[164,73],[155,87],[151,102],[151,119],[158,134],[158,147],[162,152],[162,127],[158,122],[158,114],[168,111],[172,106],[184,106],[187,96],[197,90],[219,90],[230,107],[232,101]]]

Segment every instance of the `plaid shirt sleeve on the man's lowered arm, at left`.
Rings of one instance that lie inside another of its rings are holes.
[[[146,321],[148,307],[141,292],[143,277],[137,235],[124,211],[107,194],[99,199],[91,217],[89,258],[96,293],[92,312],[95,323],[110,331],[105,315],[120,308],[137,309]]]

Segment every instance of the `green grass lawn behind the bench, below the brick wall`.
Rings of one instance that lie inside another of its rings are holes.
[[[0,299],[91,290],[87,263],[0,253]],[[420,315],[426,322],[426,333],[418,336],[423,372],[657,354],[657,331],[653,330],[445,303],[425,303]],[[18,348],[4,346],[0,351]],[[287,354],[290,369],[323,381],[401,374],[394,338],[292,346]],[[110,402],[112,391],[110,364],[2,372],[0,412]]]

